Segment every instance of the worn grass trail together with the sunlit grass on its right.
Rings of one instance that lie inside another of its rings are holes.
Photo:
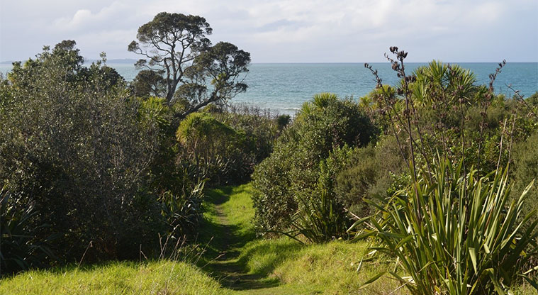
[[[203,269],[226,289],[238,294],[389,294],[397,288],[393,281],[381,280],[359,290],[360,282],[385,266],[365,266],[357,274],[366,243],[302,245],[289,238],[257,239],[251,195],[250,184],[207,192]]]

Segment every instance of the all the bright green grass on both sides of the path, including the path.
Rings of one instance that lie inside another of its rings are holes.
[[[198,263],[203,270],[161,261],[32,271],[3,279],[0,294],[390,294],[398,288],[381,278],[359,290],[362,282],[390,267],[367,262],[357,272],[365,243],[255,239],[251,189],[247,184],[208,191],[207,221],[199,238],[208,245]],[[522,286],[516,294],[533,292]]]

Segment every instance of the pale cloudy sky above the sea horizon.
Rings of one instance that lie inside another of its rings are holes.
[[[127,45],[162,11],[203,16],[252,62],[383,62],[390,46],[408,62],[538,62],[537,0],[0,0],[0,62],[66,39],[136,59]]]

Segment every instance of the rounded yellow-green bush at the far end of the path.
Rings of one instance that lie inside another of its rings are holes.
[[[212,106],[181,121],[176,137],[184,160],[208,183],[246,182],[269,156],[279,135],[269,111],[248,106]]]

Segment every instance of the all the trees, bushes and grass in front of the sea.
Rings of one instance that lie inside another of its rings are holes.
[[[73,40],[0,80],[0,292],[532,294],[538,92],[458,65],[293,118],[229,104],[250,54],[159,13],[127,82]]]

